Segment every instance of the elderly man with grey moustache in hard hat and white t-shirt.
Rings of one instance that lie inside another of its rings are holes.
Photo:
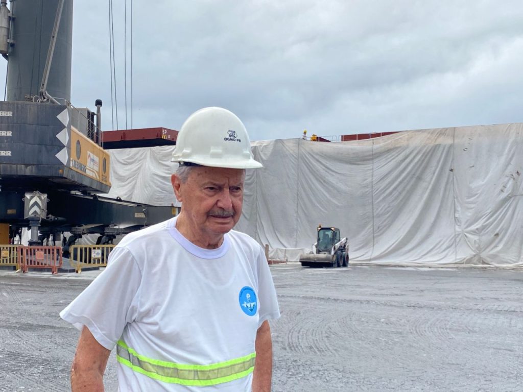
[[[124,237],[60,314],[82,331],[73,392],[104,390],[115,346],[122,392],[270,391],[274,284],[260,245],[232,230],[245,169],[261,164],[240,119],[221,108],[187,119],[173,161],[180,214]]]

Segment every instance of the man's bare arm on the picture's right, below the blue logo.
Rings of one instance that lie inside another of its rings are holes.
[[[256,362],[253,373],[253,392],[270,392],[272,378],[272,340],[269,321],[265,320],[256,332]]]

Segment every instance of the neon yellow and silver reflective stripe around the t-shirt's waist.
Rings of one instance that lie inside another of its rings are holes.
[[[116,359],[133,371],[164,383],[207,386],[233,381],[252,373],[256,353],[211,365],[188,365],[147,358],[119,340]]]

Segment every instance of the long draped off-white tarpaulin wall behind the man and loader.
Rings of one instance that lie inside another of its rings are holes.
[[[253,143],[236,229],[297,260],[316,227],[353,261],[523,265],[523,124],[405,131],[358,142]],[[173,147],[111,151],[110,196],[169,205]],[[287,250],[288,251],[287,251]]]

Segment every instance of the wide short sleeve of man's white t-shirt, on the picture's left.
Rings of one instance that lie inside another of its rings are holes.
[[[60,312],[78,330],[86,326],[94,338],[112,350],[128,322],[138,312],[142,274],[126,248],[112,250],[108,267]]]

